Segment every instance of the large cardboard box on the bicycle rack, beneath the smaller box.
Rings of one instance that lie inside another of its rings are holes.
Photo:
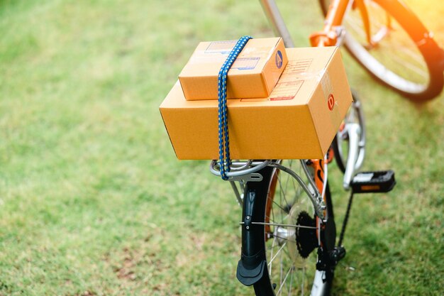
[[[270,97],[228,100],[232,159],[323,158],[352,102],[340,51],[287,49]],[[187,101],[179,82],[160,105],[179,159],[218,159],[217,100]]]

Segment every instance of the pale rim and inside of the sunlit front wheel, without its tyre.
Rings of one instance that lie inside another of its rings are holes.
[[[347,32],[344,43],[348,50],[386,84],[411,94],[426,91],[430,84],[430,72],[414,41],[374,1],[365,1],[365,6],[374,45],[367,41],[359,9],[352,8],[343,22]]]

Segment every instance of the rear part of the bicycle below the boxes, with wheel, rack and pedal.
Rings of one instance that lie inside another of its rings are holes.
[[[262,4],[276,28],[285,28],[274,1]],[[313,43],[340,42],[331,38],[337,29],[330,26],[333,34],[313,35]],[[282,33],[291,46],[288,31]],[[338,35],[344,37],[344,33]],[[389,192],[396,184],[392,170],[357,173],[365,157],[365,120],[356,94],[353,101],[323,160],[235,161],[223,174],[222,160],[211,162],[213,175],[228,179],[243,207],[236,276],[243,285],[252,285],[257,296],[328,295],[335,267],[346,253],[343,239],[353,195]],[[328,186],[328,163],[333,158],[344,173],[343,187],[351,191],[338,239]]]

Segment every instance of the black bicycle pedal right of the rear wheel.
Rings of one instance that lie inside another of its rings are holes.
[[[356,174],[350,187],[353,193],[389,192],[395,184],[393,170],[379,170]]]

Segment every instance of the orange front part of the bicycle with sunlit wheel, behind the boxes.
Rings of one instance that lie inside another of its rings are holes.
[[[274,0],[261,0],[274,31],[294,47]],[[326,17],[312,46],[345,45],[377,81],[413,102],[426,102],[443,90],[444,50],[402,0],[319,0]]]

